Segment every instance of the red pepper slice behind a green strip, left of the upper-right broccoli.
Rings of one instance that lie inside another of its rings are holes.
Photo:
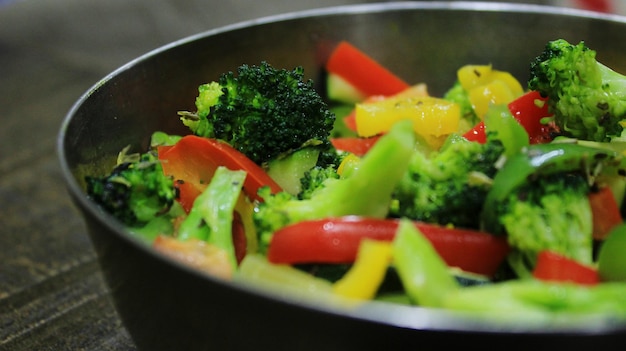
[[[546,99],[537,91],[529,91],[508,105],[513,117],[526,129],[531,144],[546,143],[552,140],[551,134],[556,127],[552,124],[541,123],[542,118],[550,116],[548,104],[545,103]],[[485,123],[478,123],[463,136],[470,141],[486,142]]]

